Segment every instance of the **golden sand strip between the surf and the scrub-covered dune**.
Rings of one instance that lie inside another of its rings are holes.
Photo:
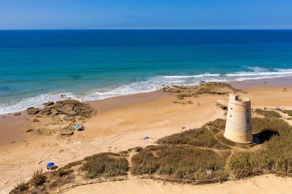
[[[289,97],[292,86],[287,86],[288,92],[279,93],[281,86],[272,86],[274,81],[268,79],[267,86],[245,88],[253,108],[273,108],[278,103],[291,108]],[[266,80],[257,83],[263,82]],[[245,83],[241,83],[244,86]],[[174,103],[176,97],[168,93],[154,91],[90,101],[88,103],[97,108],[97,115],[87,119],[85,131],[76,131],[73,136],[65,138],[59,138],[57,134],[47,136],[25,132],[27,129],[50,126],[46,119],[32,122],[32,116],[26,112],[0,117],[0,166],[3,173],[0,190],[8,192],[19,181],[28,180],[32,169],[42,168],[46,162],[57,162],[61,167],[95,153],[145,147],[163,136],[181,132],[182,127],[194,129],[214,119],[224,118],[224,110],[215,105],[216,100],[222,98],[227,100],[228,96],[203,94],[197,98],[185,98],[193,104],[183,105]],[[196,101],[200,101],[201,105],[197,106]],[[142,141],[143,136],[150,136],[151,139]]]

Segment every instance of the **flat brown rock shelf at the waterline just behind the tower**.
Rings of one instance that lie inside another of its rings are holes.
[[[228,94],[232,91],[241,91],[223,82],[202,82],[200,86],[169,86],[162,89],[177,96],[178,99],[185,97],[197,97],[203,93]]]

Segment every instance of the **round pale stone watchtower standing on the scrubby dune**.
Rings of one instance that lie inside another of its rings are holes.
[[[229,93],[229,105],[224,136],[238,143],[253,142],[250,98]]]

